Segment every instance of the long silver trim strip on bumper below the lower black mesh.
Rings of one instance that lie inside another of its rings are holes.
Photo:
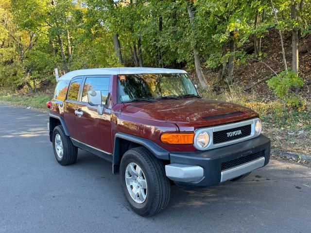
[[[234,168],[224,170],[222,171],[220,182],[225,182],[227,180],[236,178],[238,176],[241,176],[247,172],[253,171],[262,166],[264,166],[264,157],[248,162],[241,166],[236,166]]]

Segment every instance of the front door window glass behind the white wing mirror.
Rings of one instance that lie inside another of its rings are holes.
[[[90,90],[101,91],[102,104],[106,104],[110,78],[98,77],[98,78],[86,78],[86,83],[83,87],[82,102],[88,102],[87,92]]]

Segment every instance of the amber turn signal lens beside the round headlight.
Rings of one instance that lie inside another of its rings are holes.
[[[164,144],[190,145],[193,144],[194,133],[163,133],[161,142]]]

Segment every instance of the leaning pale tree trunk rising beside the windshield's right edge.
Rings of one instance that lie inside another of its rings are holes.
[[[191,30],[192,30],[192,33],[195,34],[194,30],[193,30],[194,10],[193,10],[191,4],[192,4],[191,1],[186,0],[187,11],[188,11],[189,19],[190,19]],[[197,46],[195,44],[193,46],[193,57],[194,57],[194,65],[195,65],[196,75],[197,75],[197,77],[199,79],[199,82],[200,82],[202,88],[206,88],[207,87],[207,83],[206,83],[204,75],[203,75],[199,51],[197,50]]]

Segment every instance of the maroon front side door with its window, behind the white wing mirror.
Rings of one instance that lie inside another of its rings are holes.
[[[107,109],[106,106],[109,82],[110,76],[86,76],[78,104],[82,115],[75,116],[75,130],[78,132],[75,139],[86,146],[106,153],[112,153],[110,133],[111,109]],[[97,106],[92,106],[88,103],[87,92],[89,90],[101,91],[102,104],[106,106],[103,115],[97,113]]]

